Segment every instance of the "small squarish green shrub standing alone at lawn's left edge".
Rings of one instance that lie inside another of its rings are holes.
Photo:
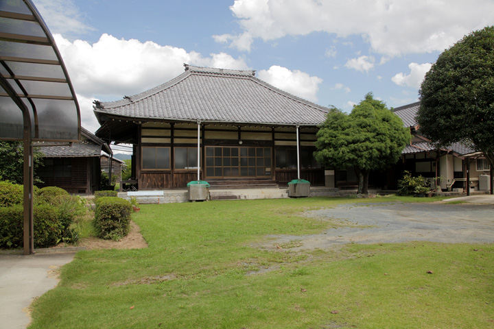
[[[119,240],[128,234],[130,202],[119,197],[99,197],[95,200],[94,225],[102,239]]]

